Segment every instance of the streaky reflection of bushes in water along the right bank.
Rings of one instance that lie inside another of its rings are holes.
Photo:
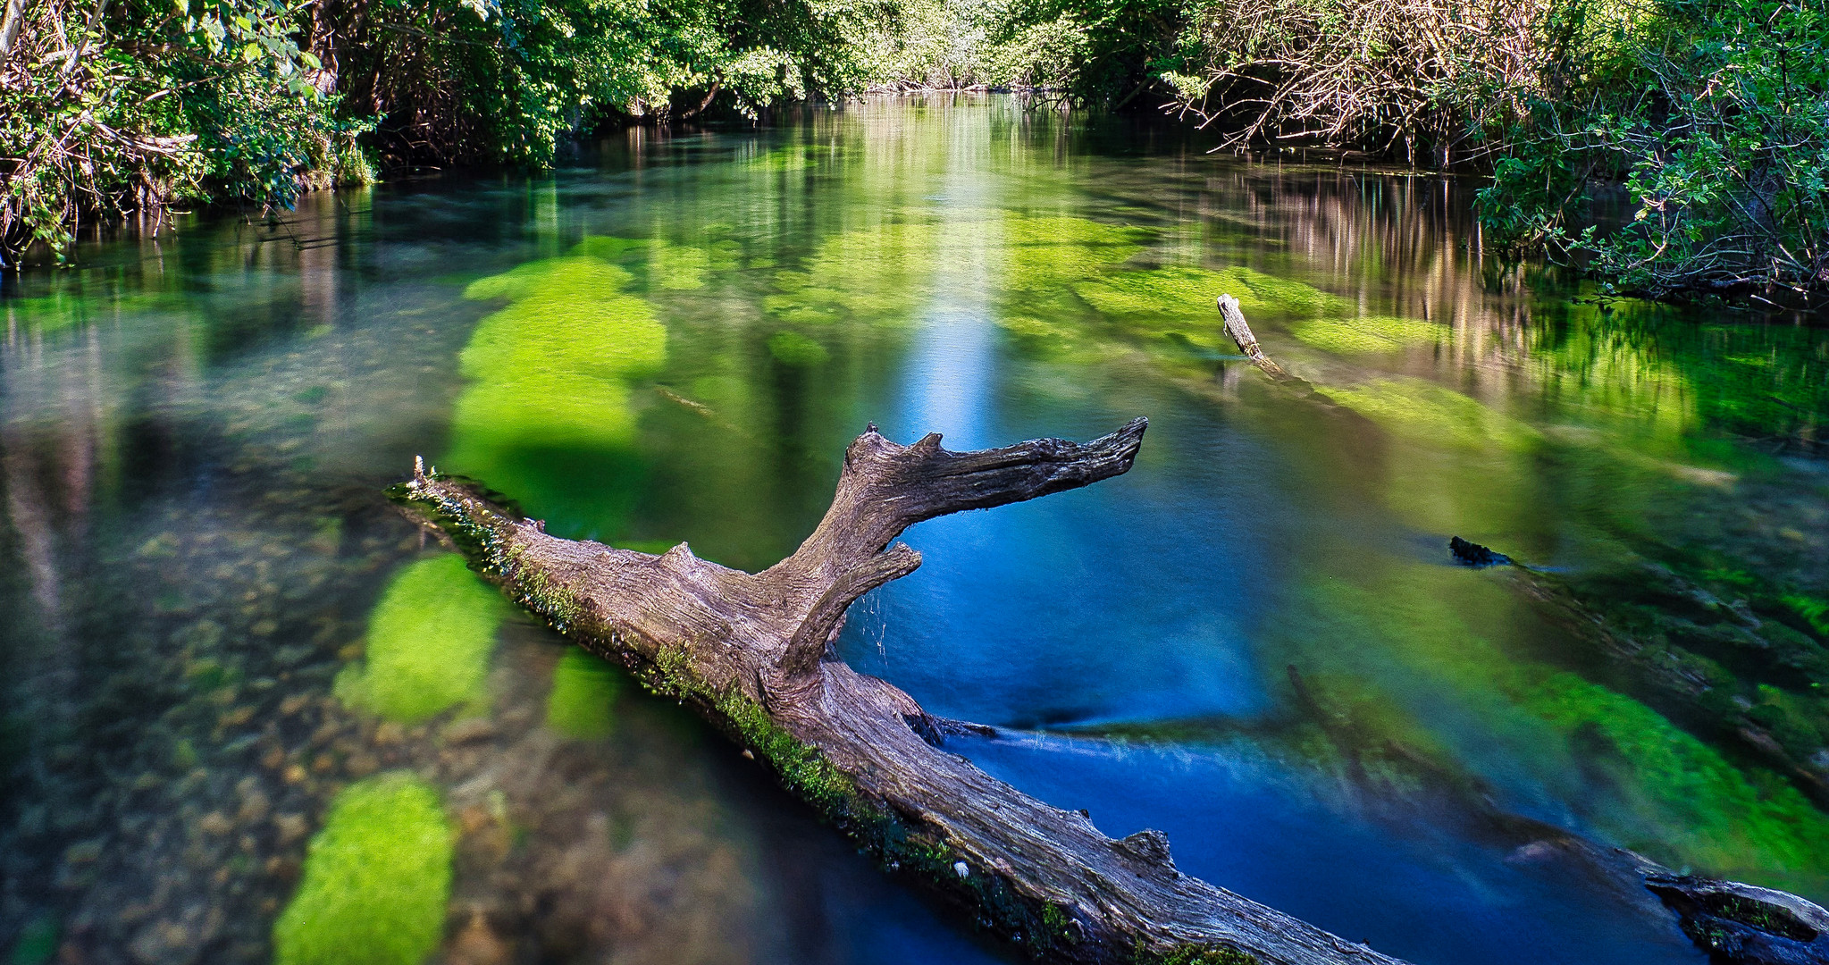
[[[1480,254],[1471,188],[1445,177],[1249,164],[1205,177],[1209,249],[1342,294],[1359,314],[1423,318],[1452,340],[1408,375],[1487,402],[1578,404],[1655,433],[1727,431],[1814,450],[1829,413],[1820,329],[1752,313],[1571,300],[1555,267]],[[1527,378],[1520,382],[1518,375]]]

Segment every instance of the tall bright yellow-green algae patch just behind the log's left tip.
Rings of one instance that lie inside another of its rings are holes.
[[[439,468],[483,479],[552,532],[611,537],[640,490],[631,382],[666,362],[666,327],[627,292],[609,256],[653,243],[585,239],[580,254],[474,281],[468,298],[503,298],[461,355],[470,380]],[[682,263],[660,285],[684,283]],[[671,274],[666,274],[671,272]],[[690,272],[688,272],[690,274]]]

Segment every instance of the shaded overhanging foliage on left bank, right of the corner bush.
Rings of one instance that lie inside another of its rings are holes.
[[[333,4],[340,79],[371,91],[388,154],[547,164],[615,117],[761,108],[861,90],[880,4],[412,0]],[[679,101],[679,108],[675,108]]]

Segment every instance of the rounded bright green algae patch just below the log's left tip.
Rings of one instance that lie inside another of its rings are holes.
[[[337,676],[337,695],[399,722],[481,704],[503,614],[463,556],[412,563],[382,590],[368,618],[368,656]]]

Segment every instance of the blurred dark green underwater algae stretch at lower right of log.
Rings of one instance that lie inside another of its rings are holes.
[[[1476,773],[1489,740],[1514,748],[1511,766],[1586,802],[1606,841],[1672,866],[1789,890],[1824,886],[1829,815],[1781,777],[1741,768],[1646,704],[1507,645],[1522,605],[1472,570],[1359,567],[1311,585],[1328,614],[1324,652],[1282,656],[1324,665],[1313,689],[1339,720],[1392,737],[1454,769]],[[1346,656],[1352,654],[1352,656]],[[1355,676],[1350,689],[1341,674]],[[1428,742],[1377,693],[1436,733]],[[1761,691],[1763,695],[1763,691]],[[1342,700],[1344,696],[1344,700]],[[1445,724],[1443,705],[1478,724]]]

